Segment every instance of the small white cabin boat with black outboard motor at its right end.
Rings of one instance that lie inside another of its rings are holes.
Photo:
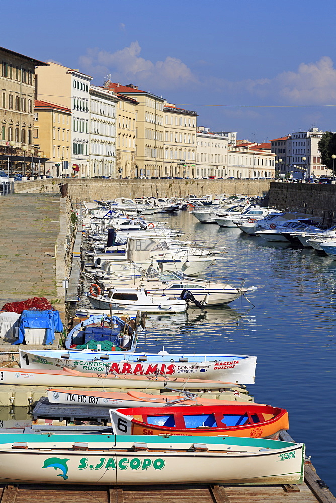
[[[89,293],[87,297],[95,309],[104,309],[105,312],[108,312],[110,306],[112,310],[144,313],[179,313],[186,311],[188,307],[181,298],[166,295],[151,297],[144,288],[116,288],[106,296]]]

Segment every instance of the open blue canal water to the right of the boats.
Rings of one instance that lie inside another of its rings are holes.
[[[240,353],[257,356],[255,402],[286,408],[290,435],[305,442],[318,475],[336,494],[336,261],[312,248],[267,243],[238,228],[201,224],[189,212],[165,218],[191,239],[227,246],[204,277],[257,287],[230,307],[152,316],[140,351]]]

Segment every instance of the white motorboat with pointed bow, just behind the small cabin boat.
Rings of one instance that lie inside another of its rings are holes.
[[[232,281],[238,281],[238,279],[232,278]],[[244,288],[245,282],[242,279],[239,280],[240,285],[238,287],[231,286],[230,282],[231,280],[214,282],[207,279],[191,278],[183,273],[166,271],[128,281],[125,281],[125,279],[118,280],[117,278],[103,280],[99,282],[99,286],[102,292],[117,286],[145,288],[147,295],[154,298],[161,295],[180,297],[183,290],[189,290],[198,302],[209,307],[229,304],[248,290],[256,290],[255,287]]]

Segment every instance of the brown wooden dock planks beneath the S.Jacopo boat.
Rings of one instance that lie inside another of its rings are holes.
[[[312,469],[312,471],[314,471]],[[310,476],[310,475],[308,475]],[[312,475],[315,479],[316,475]],[[205,484],[153,486],[0,485],[0,503],[336,503],[328,489]],[[325,499],[326,497],[326,499]]]

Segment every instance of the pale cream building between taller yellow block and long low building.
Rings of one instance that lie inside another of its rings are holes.
[[[196,134],[197,178],[226,178],[229,138],[210,132],[209,128],[199,127]]]

